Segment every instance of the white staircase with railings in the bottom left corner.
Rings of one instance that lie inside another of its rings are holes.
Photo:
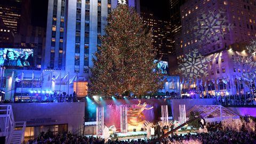
[[[0,105],[0,137],[5,137],[5,143],[22,143],[26,122],[14,122],[11,105]]]

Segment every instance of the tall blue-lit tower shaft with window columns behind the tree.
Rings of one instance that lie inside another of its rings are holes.
[[[129,6],[140,7],[139,0]],[[49,0],[43,68],[61,69],[87,79],[107,17],[118,0]],[[139,12],[139,8],[137,9]]]

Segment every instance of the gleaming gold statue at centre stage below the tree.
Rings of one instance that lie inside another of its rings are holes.
[[[140,100],[139,101],[139,104],[137,105],[136,108],[132,108],[130,107],[128,110],[127,110],[127,121],[128,121],[128,124],[130,125],[133,125],[135,127],[141,125],[145,122],[145,115],[142,113],[143,110],[148,110],[148,109],[152,109],[154,107],[150,107],[150,108],[146,108],[147,107],[147,103],[144,102],[142,105],[140,104]],[[131,126],[129,126],[129,129],[130,129]]]

